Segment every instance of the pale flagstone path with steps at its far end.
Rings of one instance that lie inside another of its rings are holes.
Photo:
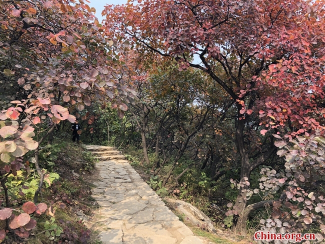
[[[103,244],[202,244],[115,147],[84,145],[98,157],[92,196],[100,210]]]

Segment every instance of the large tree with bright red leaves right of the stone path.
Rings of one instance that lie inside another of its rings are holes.
[[[238,229],[244,231],[251,210],[246,208],[248,183],[244,182],[276,151],[267,133],[268,146],[255,153],[256,145],[245,140],[249,121],[259,119],[263,135],[271,130],[292,137],[323,129],[318,121],[324,113],[318,103],[324,85],[323,2],[135,2],[106,6],[106,34],[128,40],[143,59],[173,57],[179,70],[190,66],[206,72],[236,106],[234,130],[241,173],[234,213]]]

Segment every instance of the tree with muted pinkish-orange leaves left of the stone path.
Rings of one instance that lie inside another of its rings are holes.
[[[9,208],[7,177],[18,170],[27,177],[27,160],[34,157],[30,165],[40,178],[36,202],[44,176],[37,160],[39,145],[55,124],[74,122],[73,114],[92,99],[109,100],[120,111],[122,100],[131,96],[116,77],[120,63],[114,43],[103,35],[94,12],[82,0],[0,1],[0,181],[6,199],[0,219],[15,223],[6,229],[19,228],[14,233],[20,237],[35,227],[29,217],[35,209],[23,207],[25,213],[18,217],[23,221],[17,223]],[[1,229],[0,239],[5,235]]]

